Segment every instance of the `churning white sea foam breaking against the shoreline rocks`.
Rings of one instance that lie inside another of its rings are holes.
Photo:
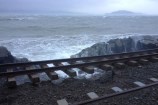
[[[69,58],[71,55],[90,47],[97,42],[106,42],[113,38],[133,36],[125,35],[100,35],[92,38],[83,35],[75,37],[45,37],[45,38],[15,38],[0,40],[0,45],[7,47],[14,56],[26,57],[32,61]]]

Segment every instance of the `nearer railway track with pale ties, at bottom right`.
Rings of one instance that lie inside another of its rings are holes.
[[[152,81],[150,84],[144,84],[140,81],[133,82],[133,85],[136,85],[137,87],[131,87],[130,89],[123,90],[120,87],[114,86],[111,88],[113,90],[113,93],[111,94],[104,94],[102,96],[97,95],[95,92],[89,92],[85,95],[89,97],[88,100],[83,100],[75,103],[68,103],[66,99],[57,100],[58,105],[95,105],[98,101],[106,100],[109,98],[117,97],[124,94],[130,94],[136,91],[140,91],[143,89],[151,88],[156,85],[158,85],[158,79],[157,78],[148,78],[148,80]],[[110,89],[109,89],[110,90]],[[102,105],[102,104],[97,104]]]

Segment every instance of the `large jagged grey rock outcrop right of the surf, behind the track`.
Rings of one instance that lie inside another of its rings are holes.
[[[153,48],[158,48],[158,36],[133,36],[96,43],[91,47],[83,49],[80,53],[72,55],[71,58],[101,56]]]

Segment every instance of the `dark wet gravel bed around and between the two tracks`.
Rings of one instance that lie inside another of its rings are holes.
[[[69,103],[87,100],[88,92],[96,92],[99,96],[114,93],[111,88],[118,86],[124,90],[136,87],[133,82],[152,83],[148,78],[158,78],[158,63],[139,67],[114,69],[114,78],[104,81],[99,79],[78,80],[66,79],[55,85],[51,82],[41,82],[37,86],[25,83],[15,89],[0,86],[0,105],[57,105],[56,101],[65,98]],[[158,105],[158,86],[154,86],[132,94],[117,96],[89,105]]]

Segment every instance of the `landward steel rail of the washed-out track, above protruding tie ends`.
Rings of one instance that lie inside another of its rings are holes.
[[[67,69],[71,69],[71,68],[80,68],[80,67],[85,67],[85,66],[97,66],[97,65],[102,65],[102,64],[125,62],[125,61],[129,61],[129,60],[138,60],[140,58],[149,58],[150,59],[153,56],[158,56],[158,54],[147,54],[147,55],[140,55],[140,56],[134,56],[134,57],[128,57],[128,58],[109,59],[109,60],[105,60],[105,61],[95,61],[95,62],[87,62],[87,63],[81,63],[81,64],[55,66],[55,67],[42,68],[42,69],[1,72],[0,77],[26,75],[26,74],[31,74],[31,73],[41,73],[41,72],[49,72],[49,71],[55,71],[55,70],[67,70]]]

